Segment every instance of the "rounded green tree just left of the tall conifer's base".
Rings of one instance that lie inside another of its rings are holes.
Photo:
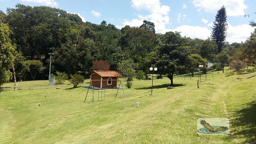
[[[210,38],[204,40],[200,55],[209,61],[214,61],[215,54],[217,53],[218,45],[211,41]]]

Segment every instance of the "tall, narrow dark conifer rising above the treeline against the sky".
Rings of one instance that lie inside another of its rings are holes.
[[[227,14],[224,5],[220,8],[215,16],[215,21],[212,26],[211,39],[218,45],[218,52],[221,51],[222,45],[226,41],[227,36]]]

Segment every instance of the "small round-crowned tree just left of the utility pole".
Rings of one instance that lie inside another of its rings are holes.
[[[43,63],[40,60],[27,60],[24,63],[28,63],[29,73],[33,77],[33,81],[35,80],[36,74],[44,70]]]

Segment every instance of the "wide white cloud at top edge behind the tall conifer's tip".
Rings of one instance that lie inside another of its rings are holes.
[[[193,4],[198,7],[198,11],[204,9],[212,13],[217,13],[224,5],[228,16],[244,15],[244,9],[247,8],[244,0],[193,0]]]

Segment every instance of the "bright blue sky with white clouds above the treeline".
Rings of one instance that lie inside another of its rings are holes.
[[[143,20],[155,23],[157,33],[180,31],[182,36],[210,37],[217,11],[227,10],[229,43],[245,41],[254,30],[255,0],[0,0],[0,10],[15,8],[17,3],[29,6],[50,6],[77,13],[83,21],[100,24],[107,21],[121,29],[125,25],[139,27]],[[252,14],[254,13],[254,14]],[[244,17],[251,14],[250,17]]]

